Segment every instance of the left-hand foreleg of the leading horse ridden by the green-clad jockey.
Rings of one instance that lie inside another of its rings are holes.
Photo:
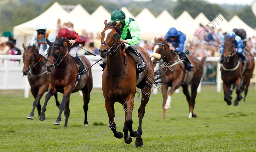
[[[116,138],[119,138],[119,139],[123,138],[123,133],[116,131],[116,123],[115,123],[115,120],[114,120],[114,117],[115,117],[114,104],[111,103],[111,101],[105,99],[105,108],[106,108],[107,113],[108,113],[108,119],[109,119],[108,126],[109,126],[109,128],[112,130],[112,132],[114,133],[114,136]]]

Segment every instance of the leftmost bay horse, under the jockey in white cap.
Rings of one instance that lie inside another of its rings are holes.
[[[48,91],[48,86],[50,83],[50,72],[46,70],[46,60],[39,56],[38,49],[33,46],[25,47],[22,44],[24,53],[23,58],[23,75],[27,75],[27,79],[30,84],[30,91],[34,96],[35,100],[33,102],[33,109],[27,119],[33,119],[34,110],[37,107],[38,116],[41,114],[41,104],[40,99],[44,95],[44,92]],[[57,99],[57,94],[54,94],[56,106],[59,108],[59,101]]]

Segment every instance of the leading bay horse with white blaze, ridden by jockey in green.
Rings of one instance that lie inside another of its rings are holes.
[[[150,98],[152,84],[160,84],[158,83],[160,81],[158,81],[158,74],[154,71],[154,66],[147,50],[142,47],[138,47],[137,51],[143,56],[146,68],[137,77],[135,61],[129,54],[126,54],[125,46],[122,48],[123,44],[121,45],[120,43],[120,23],[107,23],[107,20],[105,20],[105,28],[101,32],[102,37],[99,53],[101,58],[106,60],[106,67],[102,74],[102,92],[105,98],[109,127],[112,129],[114,136],[119,139],[123,137],[127,144],[132,142],[131,137],[137,137],[135,146],[140,147],[143,145],[141,135],[145,107]],[[132,128],[132,112],[136,87],[141,89],[142,96],[138,109],[139,126],[137,131],[134,131]],[[116,102],[121,103],[125,110],[124,134],[116,131],[116,123],[114,122],[114,104]]]

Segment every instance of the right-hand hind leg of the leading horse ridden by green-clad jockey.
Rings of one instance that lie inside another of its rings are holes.
[[[141,96],[141,103],[140,103],[140,107],[138,109],[138,117],[139,117],[139,126],[138,126],[138,130],[137,132],[139,133],[136,140],[135,140],[135,146],[136,147],[140,147],[143,145],[143,141],[141,138],[142,135],[142,119],[144,117],[145,114],[145,107],[148,103],[149,97],[151,94],[151,90],[144,90],[142,89],[142,96]]]

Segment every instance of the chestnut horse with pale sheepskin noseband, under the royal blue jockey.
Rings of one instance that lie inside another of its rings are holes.
[[[158,45],[158,48],[154,50],[156,45]],[[194,65],[194,68],[192,71],[186,71],[185,63],[181,62],[178,54],[174,54],[174,52],[169,49],[166,38],[155,38],[155,44],[153,45],[152,50],[154,50],[154,52],[151,54],[151,60],[154,66],[158,61],[163,60],[161,71],[165,76],[165,83],[163,83],[161,87],[163,96],[162,118],[165,118],[165,109],[169,109],[171,107],[170,102],[173,92],[180,86],[182,86],[183,93],[185,94],[189,104],[188,118],[196,117],[197,115],[193,110],[195,106],[195,98],[197,96],[197,88],[203,74],[203,64],[206,61],[206,56],[203,56],[200,62],[195,56],[188,55],[188,58],[191,64]],[[189,84],[191,85],[191,96],[188,90]],[[167,98],[168,87],[171,87],[171,89],[168,92]]]

